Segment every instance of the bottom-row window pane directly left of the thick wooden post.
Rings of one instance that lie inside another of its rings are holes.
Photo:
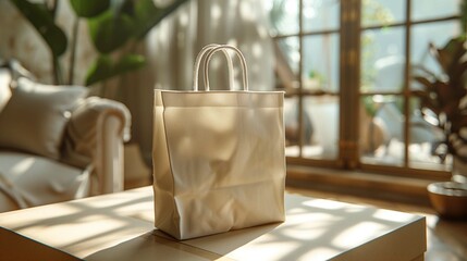
[[[304,98],[303,156],[335,160],[339,140],[339,98],[334,96]]]

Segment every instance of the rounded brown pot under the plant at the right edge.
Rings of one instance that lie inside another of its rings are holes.
[[[428,185],[431,204],[442,217],[467,219],[467,184],[441,182]]]

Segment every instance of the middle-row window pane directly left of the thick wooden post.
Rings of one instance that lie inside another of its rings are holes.
[[[337,34],[304,37],[303,87],[337,91],[339,60]]]

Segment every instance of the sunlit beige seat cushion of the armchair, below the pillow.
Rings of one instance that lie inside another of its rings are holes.
[[[88,182],[85,170],[44,157],[0,151],[0,212],[85,197]]]

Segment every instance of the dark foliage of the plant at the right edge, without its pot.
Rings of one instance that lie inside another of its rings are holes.
[[[444,136],[433,145],[432,152],[441,162],[450,156],[454,174],[457,166],[465,165],[467,171],[467,0],[459,3],[458,22],[459,35],[442,47],[429,44],[441,73],[414,66],[414,72],[418,72],[414,79],[421,84],[421,88],[414,91],[420,98],[420,112]]]

